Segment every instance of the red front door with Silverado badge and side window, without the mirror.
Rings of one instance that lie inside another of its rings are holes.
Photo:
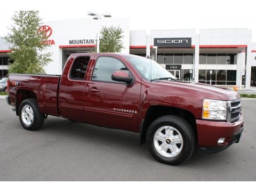
[[[114,71],[128,71],[114,57],[98,57],[91,81],[86,85],[84,113],[90,124],[113,129],[137,130],[141,84],[126,85],[111,79]]]

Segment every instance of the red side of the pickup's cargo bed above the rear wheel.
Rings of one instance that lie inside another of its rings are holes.
[[[41,113],[59,116],[58,90],[61,75],[9,74],[10,100],[15,106],[19,93],[35,94]],[[22,96],[23,97],[23,96]]]

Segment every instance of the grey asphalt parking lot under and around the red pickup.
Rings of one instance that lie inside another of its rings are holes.
[[[49,117],[24,130],[0,99],[0,181],[256,181],[256,100],[243,100],[241,141],[170,166],[155,161],[139,135]]]

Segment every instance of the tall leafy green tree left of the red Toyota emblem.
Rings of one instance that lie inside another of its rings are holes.
[[[51,59],[51,53],[41,53],[46,49],[47,37],[39,31],[42,19],[38,11],[18,11],[12,17],[13,25],[9,28],[4,39],[10,44],[10,59],[14,62],[10,65],[9,73],[45,74],[44,66]]]

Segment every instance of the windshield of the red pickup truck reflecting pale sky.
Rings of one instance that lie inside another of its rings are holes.
[[[129,56],[126,59],[139,71],[142,78],[148,81],[165,78],[176,79],[169,71],[151,59],[139,56]]]

